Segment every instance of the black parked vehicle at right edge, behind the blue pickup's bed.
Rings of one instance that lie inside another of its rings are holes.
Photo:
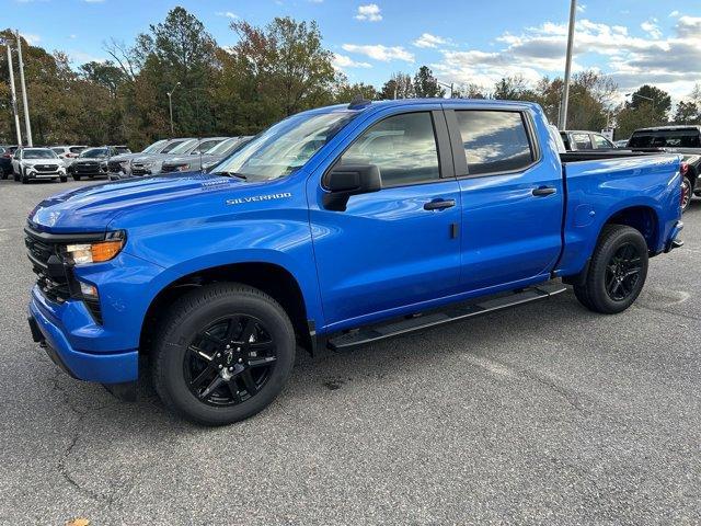
[[[633,132],[628,140],[633,150],[669,151],[682,156],[683,210],[689,208],[691,196],[701,196],[701,126],[658,126]]]

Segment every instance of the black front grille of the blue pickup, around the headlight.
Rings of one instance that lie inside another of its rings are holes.
[[[62,247],[76,242],[90,242],[101,235],[87,235],[85,238],[72,238],[60,235],[45,235],[27,226],[24,229],[24,244],[32,270],[36,274],[36,284],[50,301],[62,304],[68,299],[83,300],[97,323],[102,324],[100,301],[83,298],[80,284],[73,275],[71,265],[64,262]]]

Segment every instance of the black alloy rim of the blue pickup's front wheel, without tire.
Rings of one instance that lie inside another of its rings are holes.
[[[255,397],[271,378],[276,345],[263,322],[233,315],[203,328],[187,346],[183,373],[189,391],[209,405],[235,405]]]

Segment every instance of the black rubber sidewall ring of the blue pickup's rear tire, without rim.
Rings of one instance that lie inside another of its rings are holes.
[[[625,299],[614,300],[609,296],[606,289],[606,268],[616,251],[620,249],[621,245],[627,243],[632,243],[637,248],[637,251],[641,254],[641,272],[633,293]],[[597,254],[596,261],[594,262],[589,275],[589,300],[597,307],[597,310],[600,312],[622,312],[623,310],[628,309],[635,301],[635,299],[637,299],[637,296],[642,291],[643,286],[645,285],[645,279],[647,277],[647,267],[648,255],[645,238],[643,238],[643,236],[633,228],[621,228],[605,241],[600,252]]]

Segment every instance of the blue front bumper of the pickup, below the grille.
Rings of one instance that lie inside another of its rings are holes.
[[[69,375],[100,384],[135,381],[139,371],[139,353],[90,353],[73,348],[48,309],[38,287],[32,290],[28,322],[35,342],[45,346],[49,357]]]

